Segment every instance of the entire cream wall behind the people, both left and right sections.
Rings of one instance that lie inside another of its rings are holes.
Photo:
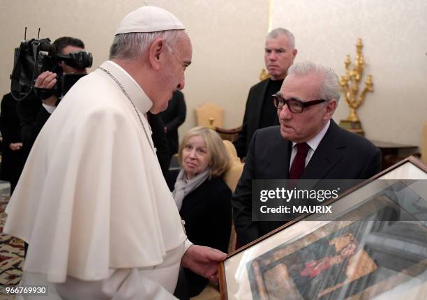
[[[376,140],[419,144],[427,115],[427,2],[424,0],[290,1],[290,0],[156,0],[172,11],[193,40],[193,64],[186,73],[188,117],[182,134],[195,126],[194,107],[214,102],[225,109],[224,126],[239,126],[248,89],[263,67],[269,2],[272,27],[294,32],[297,61],[312,60],[344,73],[346,54],[354,57],[357,38],[364,41],[366,71],[374,93],[359,109],[366,136]],[[10,88],[13,48],[24,37],[51,40],[82,38],[93,53],[93,66],[107,59],[121,18],[140,0],[63,1],[0,0],[0,93]],[[341,102],[335,119],[347,117]]]

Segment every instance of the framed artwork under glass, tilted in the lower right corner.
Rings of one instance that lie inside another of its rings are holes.
[[[407,158],[230,253],[223,299],[426,299],[427,167]]]

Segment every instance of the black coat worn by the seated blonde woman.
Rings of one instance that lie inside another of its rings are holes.
[[[174,170],[168,174],[170,190],[174,190],[178,173],[179,170]],[[205,180],[183,199],[179,214],[186,222],[186,233],[191,242],[227,253],[232,224],[230,199],[230,188],[218,177]],[[193,297],[204,289],[208,280],[188,269],[185,271],[188,296]]]

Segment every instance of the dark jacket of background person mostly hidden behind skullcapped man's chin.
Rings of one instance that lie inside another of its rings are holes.
[[[186,101],[184,100],[183,93],[176,91],[167,105],[167,110],[160,113],[160,117],[167,129],[166,137],[171,156],[174,153],[178,153],[178,127],[186,121],[186,112]]]

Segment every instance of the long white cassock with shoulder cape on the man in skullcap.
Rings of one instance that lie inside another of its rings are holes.
[[[101,67],[148,137],[110,75],[83,77],[38,135],[3,231],[29,243],[22,285],[49,285],[49,299],[170,299],[190,242],[151,149],[152,103],[116,63]]]

